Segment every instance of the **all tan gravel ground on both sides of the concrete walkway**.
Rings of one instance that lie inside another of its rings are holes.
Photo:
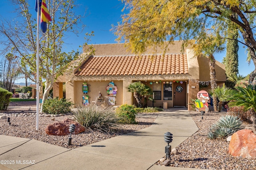
[[[18,103],[18,102],[17,102]],[[28,105],[28,106],[25,106]],[[28,112],[34,113],[35,103],[11,103],[10,106],[22,106],[13,107],[8,109],[7,113]],[[32,111],[28,111],[31,106]],[[156,115],[157,113],[150,113]],[[149,114],[149,115],[150,115]],[[187,167],[187,168],[199,168],[199,169],[214,169],[214,170],[256,170],[256,160],[246,159],[241,157],[234,157],[228,153],[229,143],[226,139],[214,139],[207,138],[209,127],[216,123],[220,116],[226,115],[226,112],[208,112],[204,114],[203,119],[200,113],[191,111],[190,114],[194,119],[199,130],[189,137],[186,141],[178,145],[176,149],[180,154],[171,155],[171,167]],[[55,117],[55,120],[65,119],[69,116]],[[104,139],[115,137],[116,135],[122,135],[132,131],[144,129],[149,127],[154,118],[136,117],[138,125],[123,125],[119,131],[115,134],[106,134],[99,131],[92,131],[90,133],[80,133],[78,135],[72,135],[72,145],[67,145],[67,136],[53,136],[46,135],[44,128],[49,123],[54,121],[52,117],[40,117],[40,130],[36,131],[36,118],[35,117],[11,117],[12,126],[8,126],[6,119],[0,119],[0,128],[5,129],[0,131],[1,135],[9,135],[16,137],[24,137],[30,139],[36,139],[53,145],[58,145],[66,148],[77,148]],[[8,127],[8,128],[6,128]],[[252,125],[244,123],[244,128],[254,130]],[[255,133],[255,131],[254,131]],[[162,165],[162,162],[158,161],[156,164]]]

